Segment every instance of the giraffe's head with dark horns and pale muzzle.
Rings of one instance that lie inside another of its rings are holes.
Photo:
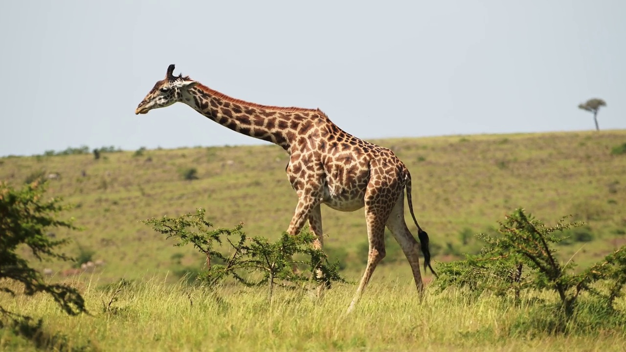
[[[167,68],[165,78],[157,81],[148,95],[139,103],[135,115],[148,113],[152,109],[165,108],[165,106],[170,106],[177,101],[182,101],[183,93],[198,85],[198,82],[190,80],[189,76],[174,76],[173,71],[174,65],[170,65]]]

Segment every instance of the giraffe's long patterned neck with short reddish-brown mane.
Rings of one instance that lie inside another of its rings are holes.
[[[266,106],[231,98],[207,86],[198,85],[183,96],[183,102],[220,125],[289,151],[298,131],[319,110]]]

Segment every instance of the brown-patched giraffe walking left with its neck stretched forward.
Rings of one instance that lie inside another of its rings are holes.
[[[137,106],[145,114],[182,102],[230,130],[272,142],[289,153],[285,168],[298,196],[287,233],[295,236],[308,220],[321,249],[321,205],[352,212],[365,209],[369,252],[363,273],[348,312],[361,298],[377,264],[385,256],[385,226],[408,259],[419,296],[424,285],[419,268],[418,247],[424,255],[424,271],[430,264],[429,238],[413,212],[411,174],[394,153],[366,142],[337,127],[319,109],[260,105],[232,98],[212,90],[189,76],[174,76],[170,65],[163,80]],[[418,241],[404,221],[404,191],[409,212],[418,228]]]

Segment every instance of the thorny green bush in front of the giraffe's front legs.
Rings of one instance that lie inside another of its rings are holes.
[[[206,256],[207,269],[197,279],[212,287],[227,277],[245,286],[269,287],[271,300],[275,286],[295,289],[308,281],[316,281],[328,286],[333,281],[344,281],[338,272],[338,264],[329,263],[321,249],[315,249],[316,237],[307,231],[298,236],[286,232],[275,242],[263,237],[249,237],[243,231],[243,224],[232,229],[212,229],[205,220],[205,210],[197,209],[196,214],[186,214],[178,218],[164,216],[162,219],[144,221],[157,232],[177,240],[174,246],[192,244]],[[226,246],[223,254],[215,247]],[[295,255],[304,260],[294,260]],[[223,264],[215,264],[215,259]],[[310,275],[295,272],[295,266],[304,266]]]

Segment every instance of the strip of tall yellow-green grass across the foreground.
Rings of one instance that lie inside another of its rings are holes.
[[[548,333],[542,324],[553,316],[536,309],[535,295],[515,306],[495,296],[429,290],[421,304],[413,282],[398,277],[372,282],[351,314],[351,285],[321,299],[279,291],[268,304],[262,289],[211,292],[153,278],[115,293],[115,286],[100,289],[86,279],[76,284],[90,315],[68,318],[43,295],[9,301],[6,308],[44,324],[31,338],[0,329],[0,349],[33,350],[29,339],[42,349],[86,351],[616,351],[626,344],[623,324],[596,329],[593,313],[580,318],[576,334]]]

